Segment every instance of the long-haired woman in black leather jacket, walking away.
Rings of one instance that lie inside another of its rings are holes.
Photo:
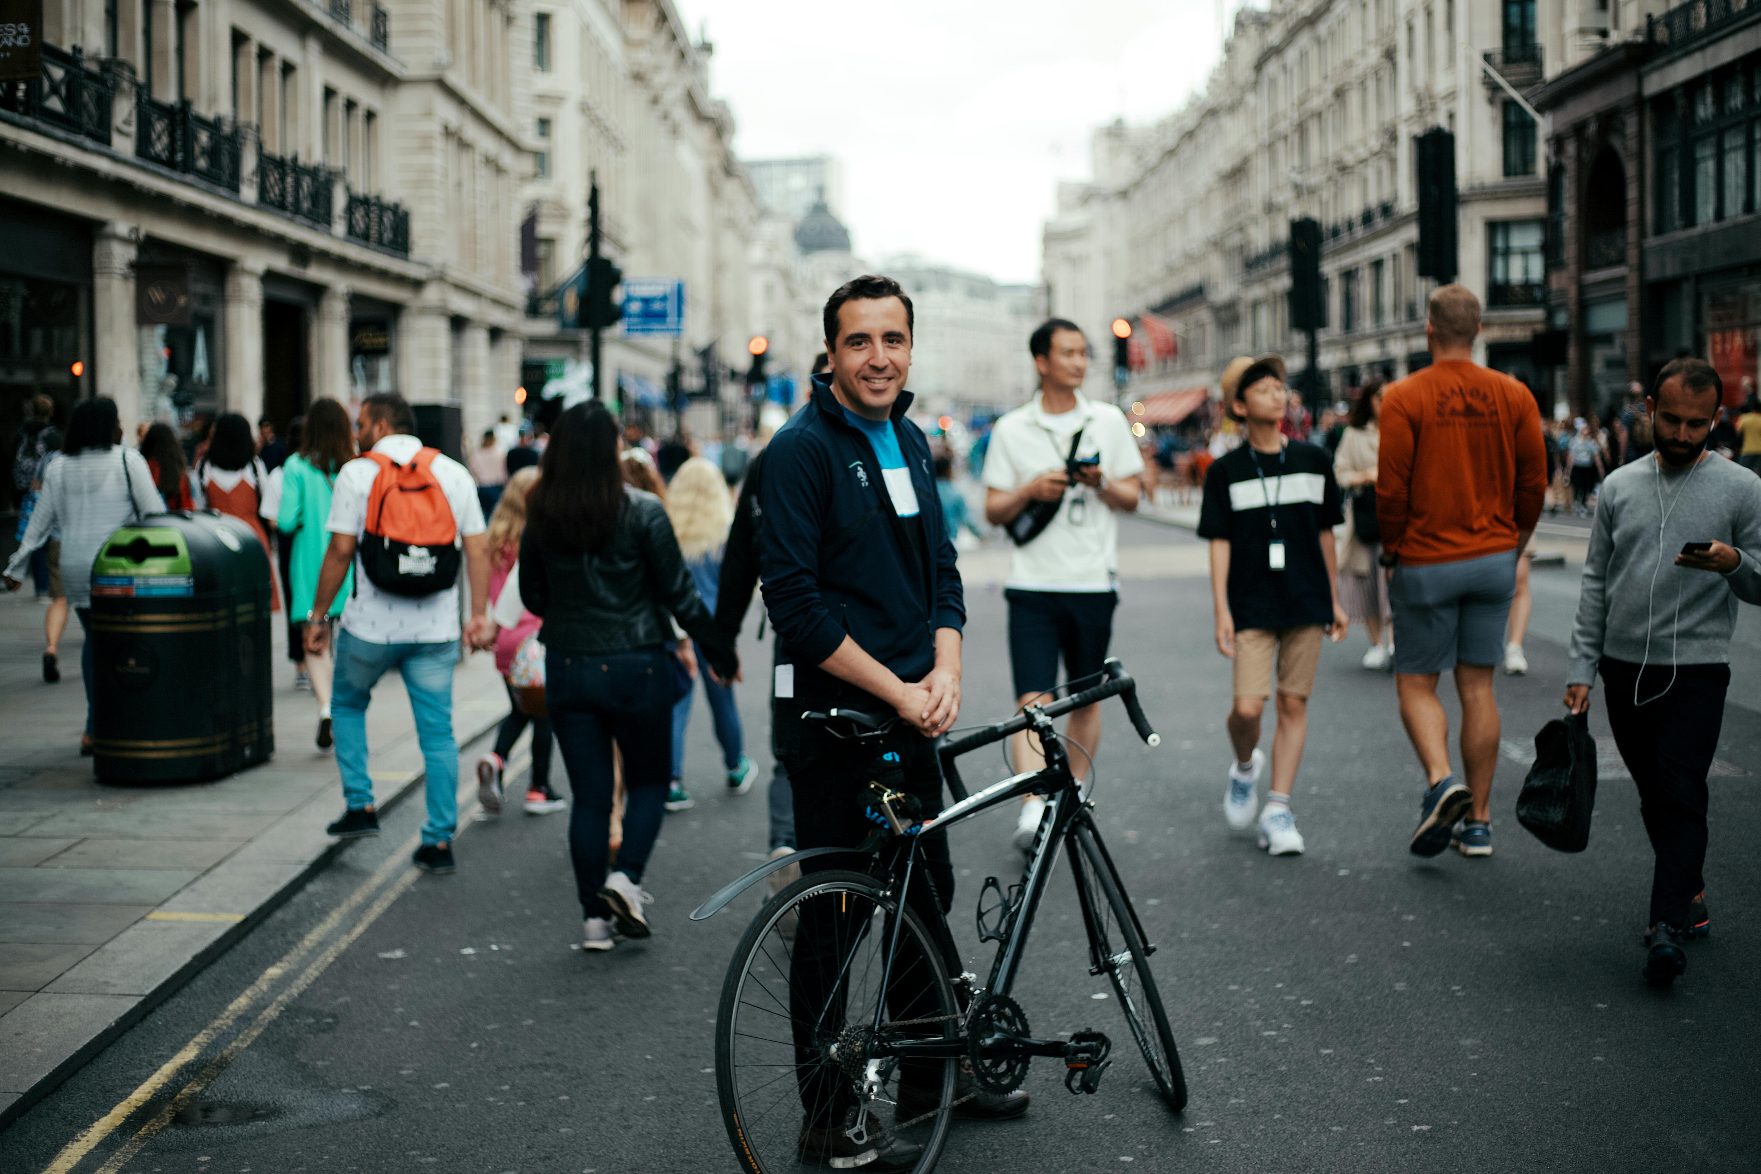
[[[569,850],[586,917],[586,949],[613,933],[646,938],[643,868],[660,834],[673,769],[673,620],[722,679],[740,671],[733,642],[697,597],[660,500],[629,489],[618,424],[604,405],[569,408],[551,429],[527,498],[519,593],[544,620],[544,697],[569,766]],[[606,875],[611,746],[623,753],[623,845]]]

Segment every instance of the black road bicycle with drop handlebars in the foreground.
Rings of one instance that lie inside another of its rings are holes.
[[[1058,850],[1067,848],[1076,899],[1088,933],[1088,973],[1106,975],[1125,1026],[1169,1109],[1187,1104],[1185,1075],[1150,958],[1155,947],[1125,896],[1101,840],[1094,803],[1078,780],[1053,720],[1120,697],[1150,746],[1160,737],[1138,706],[1136,683],[1118,660],[1102,681],[1014,718],[939,746],[954,803],[930,820],[916,801],[888,785],[886,739],[898,722],[849,709],[810,713],[840,737],[872,743],[866,815],[873,833],[861,845],[863,871],[803,875],[777,892],[747,928],[727,968],[715,1023],[715,1081],[722,1118],[750,1174],[808,1169],[886,1169],[926,1174],[947,1141],[953,1112],[976,1090],[1007,1093],[1027,1079],[1035,1056],[1062,1060],[1064,1084],[1094,1093],[1111,1065],[1101,1031],[1037,1038],[1011,998]],[[969,796],[954,759],[1028,730],[1044,769],[1016,774]],[[988,877],[979,892],[979,938],[997,956],[981,984],[965,973],[940,908],[912,875],[923,868],[921,838],[1027,794],[1046,797],[1034,850],[1020,884],[1007,891]],[[808,848],[766,862],[727,885],[692,921],[711,917],[777,869],[849,848]],[[963,1095],[960,1074],[965,1070]]]

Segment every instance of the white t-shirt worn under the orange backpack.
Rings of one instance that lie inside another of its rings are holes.
[[[373,445],[373,452],[384,452],[398,465],[407,465],[423,447],[416,437],[386,437]],[[477,482],[470,470],[449,456],[437,456],[433,463],[435,481],[446,493],[447,505],[453,507],[453,521],[458,525],[460,539],[483,533],[483,505],[477,503]],[[352,533],[357,540],[366,533],[366,500],[379,477],[379,465],[359,456],[342,466],[336,473],[336,488],[331,491],[331,516],[324,525],[331,533]],[[456,641],[458,627],[458,591],[467,579],[461,567],[458,581],[446,591],[433,595],[389,595],[380,591],[372,579],[354,576],[354,597],[342,613],[342,628],[357,641],[368,644],[438,644]]]

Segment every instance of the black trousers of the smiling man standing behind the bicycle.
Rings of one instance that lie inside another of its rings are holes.
[[[868,838],[870,824],[863,818],[863,796],[870,769],[880,750],[900,755],[905,773],[902,790],[910,792],[928,818],[942,810],[942,771],[935,759],[935,745],[914,732],[895,734],[888,746],[849,743],[829,734],[803,727],[798,718],[778,715],[778,748],[789,780],[794,785],[794,833],[798,848],[854,848]],[[821,855],[801,864],[803,873],[824,869],[865,869],[866,859],[851,855]],[[960,973],[960,958],[944,915],[954,896],[954,866],[947,854],[947,834],[923,840],[912,873],[907,903],[928,926],[942,952],[949,975]],[[822,1063],[824,1044],[844,1026],[847,991],[852,980],[838,984],[845,956],[861,947],[861,959],[873,959],[879,968],[886,942],[891,940],[893,919],[870,919],[872,910],[849,908],[833,898],[808,901],[799,910],[794,950],[789,961],[789,1014],[794,1023],[794,1047],[801,1107],[808,1121],[833,1125],[854,1104],[851,1082],[842,1079],[835,1065]],[[886,938],[865,940],[863,933],[884,933]],[[940,1014],[928,986],[925,966],[928,959],[910,947],[910,936],[900,938],[893,980],[888,984],[888,1014],[893,1019],[921,1019]],[[879,970],[868,975],[879,980]],[[854,980],[858,991],[863,982]],[[940,1061],[909,1065],[902,1072],[910,1077],[921,1070],[923,1079],[940,1070]]]

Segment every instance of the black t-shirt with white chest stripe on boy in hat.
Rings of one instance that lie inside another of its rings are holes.
[[[1199,537],[1229,542],[1229,613],[1236,630],[1333,621],[1321,542],[1331,542],[1342,521],[1326,449],[1291,440],[1280,459],[1243,444],[1217,458],[1205,473]],[[1284,542],[1284,570],[1271,569],[1273,540]]]

